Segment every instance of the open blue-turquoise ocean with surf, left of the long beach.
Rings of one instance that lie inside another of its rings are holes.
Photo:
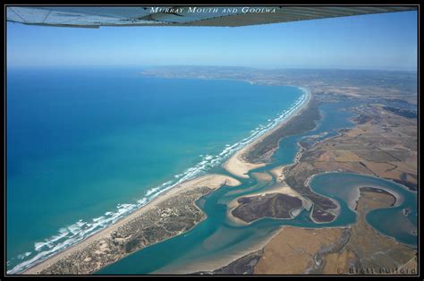
[[[8,70],[10,272],[216,169],[302,96],[294,87],[138,72]]]

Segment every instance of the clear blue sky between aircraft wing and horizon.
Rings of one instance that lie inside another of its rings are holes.
[[[239,28],[55,28],[7,23],[7,64],[417,68],[417,12]]]

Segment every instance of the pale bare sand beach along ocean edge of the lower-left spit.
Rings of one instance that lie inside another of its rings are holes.
[[[181,192],[195,189],[201,186],[208,186],[208,188],[210,189],[217,189],[224,184],[229,186],[236,186],[236,185],[239,185],[240,182],[226,175],[213,174],[213,175],[199,176],[198,178],[195,178],[191,181],[181,183],[175,186],[174,188],[164,192],[163,194],[161,194],[156,199],[152,200],[151,202],[149,202],[147,205],[143,206],[142,208],[134,211],[130,216],[123,217],[123,219],[119,220],[114,225],[108,226],[105,229],[99,231],[98,233],[89,236],[87,239],[85,239],[81,243],[77,243],[65,249],[64,251],[58,252],[57,254],[48,258],[47,260],[41,261],[36,266],[24,271],[23,274],[29,274],[29,275],[39,274],[39,272],[41,272],[42,270],[49,268],[50,266],[54,265],[59,260],[64,260],[68,256],[72,255],[72,253],[77,251],[84,251],[86,248],[89,247],[89,245],[93,243],[98,243],[98,241],[101,241],[102,239],[109,238],[111,234],[114,233],[114,231],[116,231],[119,227],[130,223],[135,218],[140,217],[141,215],[148,212],[148,210],[156,209],[159,203],[164,202],[165,200],[169,200],[171,198],[177,197],[179,193]]]

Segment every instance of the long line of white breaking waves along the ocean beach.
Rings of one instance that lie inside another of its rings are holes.
[[[174,175],[174,180],[170,180],[149,189],[146,192],[145,197],[137,200],[135,203],[118,204],[114,211],[106,211],[103,216],[92,218],[89,222],[81,219],[71,226],[60,228],[57,234],[48,237],[42,242],[35,243],[33,252],[28,251],[20,254],[17,258],[8,260],[7,265],[11,264],[13,260],[24,260],[28,258],[28,260],[24,260],[12,269],[8,270],[7,274],[17,274],[33,267],[41,261],[55,255],[55,253],[64,251],[64,249],[81,242],[90,235],[98,233],[98,231],[106,228],[106,226],[113,225],[119,219],[130,215],[136,209],[140,209],[144,205],[148,204],[149,201],[156,198],[162,192],[165,192],[173,188],[175,185],[191,180],[199,175],[204,175],[210,168],[224,163],[224,161],[233,155],[235,151],[242,149],[250,142],[257,140],[260,136],[275,128],[278,123],[281,123],[290,115],[293,115],[293,113],[301,105],[303,105],[309,96],[307,89],[300,89],[303,91],[301,98],[298,98],[289,109],[277,114],[275,119],[268,119],[267,124],[259,124],[257,128],[250,131],[249,137],[234,144],[226,144],[225,149],[217,155],[200,155],[199,157],[201,160],[195,166],[191,166],[186,169],[182,174]]]

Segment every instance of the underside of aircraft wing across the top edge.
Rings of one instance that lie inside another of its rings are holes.
[[[306,21],[417,10],[404,6],[21,6],[7,5],[7,21],[56,27],[221,26]]]

